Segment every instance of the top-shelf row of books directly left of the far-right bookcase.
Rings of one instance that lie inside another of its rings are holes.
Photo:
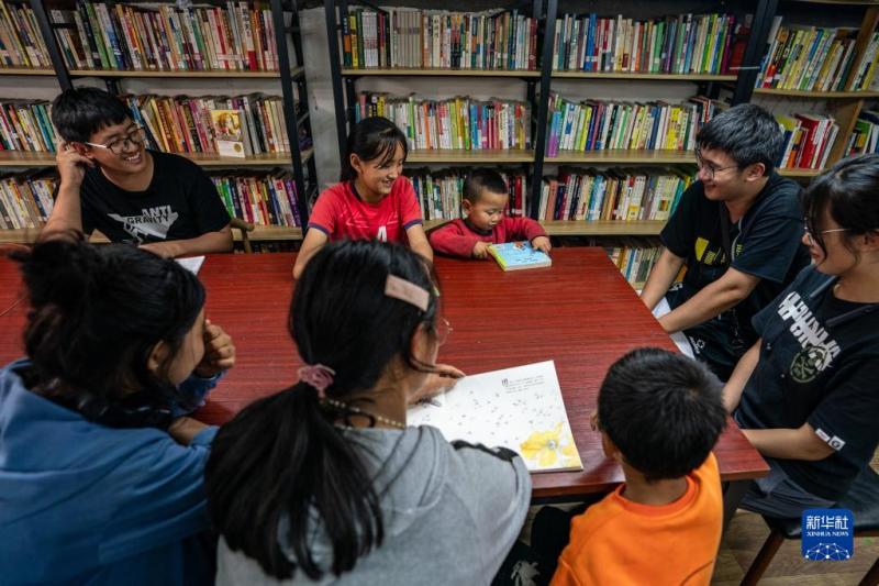
[[[556,20],[553,69],[727,73],[734,65],[734,32],[732,14],[681,14],[643,21],[622,15],[565,14]]]

